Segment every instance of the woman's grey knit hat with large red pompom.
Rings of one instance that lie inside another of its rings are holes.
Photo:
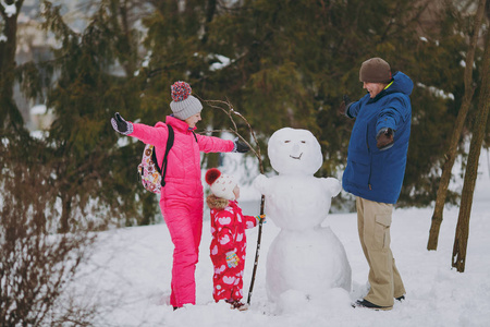
[[[172,109],[175,118],[186,120],[191,116],[194,116],[203,110],[203,105],[200,101],[191,95],[193,89],[187,83],[182,81],[175,82],[170,89],[172,96],[170,109]]]

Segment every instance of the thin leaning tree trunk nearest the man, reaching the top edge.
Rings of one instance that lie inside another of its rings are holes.
[[[475,16],[475,28],[471,36],[468,52],[466,55],[466,66],[465,66],[465,95],[463,102],[461,105],[460,111],[456,118],[456,124],[454,125],[453,134],[450,141],[450,147],[445,154],[445,162],[442,168],[442,175],[439,182],[438,194],[436,198],[436,207],[432,215],[432,223],[429,231],[429,241],[427,243],[427,250],[438,249],[439,229],[442,223],[442,211],[444,210],[445,197],[448,195],[448,187],[451,180],[451,171],[456,159],[457,144],[460,142],[461,133],[468,113],[469,105],[471,104],[473,94],[475,93],[475,87],[473,86],[473,65],[475,61],[475,51],[478,41],[478,35],[481,26],[481,21],[483,19],[485,5],[487,0],[479,0],[478,10]]]

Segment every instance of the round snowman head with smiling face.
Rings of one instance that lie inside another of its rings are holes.
[[[323,162],[320,144],[307,130],[275,131],[270,136],[268,154],[272,168],[282,174],[314,174]]]

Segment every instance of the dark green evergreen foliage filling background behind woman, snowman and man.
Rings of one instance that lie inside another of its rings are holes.
[[[121,217],[119,225],[155,221],[158,199],[136,181],[144,145],[120,138],[109,119],[119,111],[146,124],[164,120],[175,81],[188,82],[204,101],[200,126],[229,129],[228,117],[206,104],[226,100],[248,119],[262,149],[278,129],[310,130],[326,157],[318,175],[340,175],[353,122],[336,108],[344,94],[353,100],[364,95],[358,70],[371,57],[415,83],[399,205],[426,206],[436,197],[464,94],[461,62],[471,26],[453,2],[428,24],[421,17],[430,1],[99,0],[79,33],[59,7],[42,3],[44,29],[59,46],[52,60],[27,63],[16,76],[25,95],[45,98],[57,117],[45,160],[54,167],[49,183],[58,192],[52,202],[63,204],[62,231],[85,223],[83,210],[90,205]],[[8,119],[3,107],[0,118]],[[248,135],[245,125],[238,131]],[[215,166],[218,157],[204,160]]]

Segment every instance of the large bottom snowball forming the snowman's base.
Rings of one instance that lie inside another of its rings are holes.
[[[321,299],[333,288],[351,292],[351,275],[344,246],[330,227],[281,230],[267,257],[267,295],[278,302],[290,290],[306,300]]]

